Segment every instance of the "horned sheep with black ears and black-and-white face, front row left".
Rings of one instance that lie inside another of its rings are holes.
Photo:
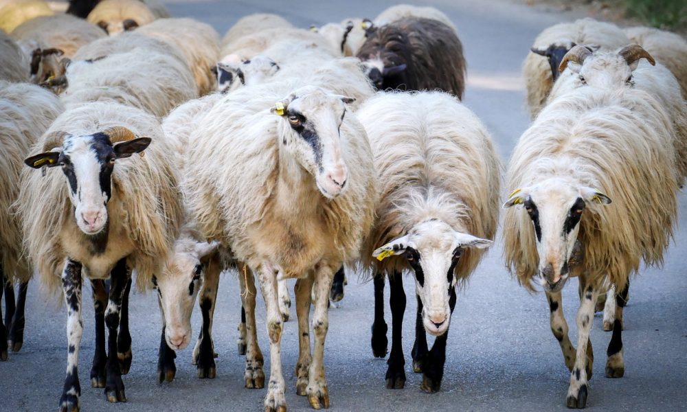
[[[143,150],[146,156],[132,156]],[[91,385],[104,387],[110,402],[124,402],[121,374],[131,365],[124,298],[131,271],[137,272],[139,288],[152,284],[183,217],[177,179],[167,159],[170,148],[153,115],[113,102],[92,102],[68,108],[32,153],[25,159],[30,168],[59,165],[63,170],[39,173],[25,168],[18,202],[30,261],[47,290],[59,290],[61,277],[67,302],[69,352],[60,410],[80,409],[82,275],[91,279],[95,304]],[[106,278],[111,284],[104,310]],[[106,358],[104,325],[109,330]]]

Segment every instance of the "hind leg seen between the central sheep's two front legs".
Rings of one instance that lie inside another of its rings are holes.
[[[310,353],[310,306],[312,304],[313,277],[296,281],[293,292],[296,297],[296,317],[298,319],[298,362],[296,363],[296,393],[306,396],[308,387],[308,368],[312,361]]]

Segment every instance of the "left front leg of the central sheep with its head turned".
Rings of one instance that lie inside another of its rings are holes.
[[[264,398],[266,412],[285,412],[286,397],[284,395],[284,376],[282,376],[282,328],[284,321],[279,312],[279,296],[277,286],[277,271],[269,265],[262,265],[258,269],[258,279],[262,290],[262,299],[267,308],[267,336],[269,336],[269,386]]]

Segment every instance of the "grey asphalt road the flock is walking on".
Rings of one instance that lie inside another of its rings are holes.
[[[389,1],[168,1],[174,16],[193,16],[223,34],[240,16],[276,12],[308,27],[350,16],[374,17]],[[464,102],[493,134],[504,162],[528,126],[520,65],[532,38],[544,27],[572,20],[567,13],[540,12],[505,1],[434,1],[458,27],[468,62]],[[679,195],[681,222],[687,196]],[[604,377],[610,339],[596,317],[592,341],[596,354],[590,382],[592,411],[687,410],[687,230],[679,225],[663,268],[646,268],[631,287],[623,333],[626,373]],[[408,305],[404,322],[407,382],[403,390],[385,389],[385,361],[370,350],[372,283],[349,279],[346,297],[330,310],[326,371],[333,411],[556,411],[565,409],[569,374],[548,324],[543,294],[530,295],[511,279],[502,264],[501,245],[486,255],[469,285],[458,295],[442,390],[420,391],[422,377],[412,373],[410,350],[414,325],[414,284],[405,281]],[[682,251],[682,252],[681,252]],[[88,289],[88,288],[87,288]],[[83,411],[258,411],[265,389],[243,388],[243,357],[236,352],[240,317],[238,282],[225,276],[214,322],[217,378],[199,380],[190,363],[191,347],[179,352],[177,378],[156,380],[160,319],[154,293],[131,298],[133,365],[124,376],[126,404],[108,404],[102,389],[89,386],[94,325],[90,291],[85,291],[85,330],[80,352]],[[388,287],[385,292],[388,295]],[[576,280],[564,292],[565,314],[573,342]],[[386,308],[387,323],[390,312]],[[291,310],[295,319],[295,309]],[[21,352],[0,363],[0,411],[55,411],[62,390],[67,340],[64,306],[47,301],[30,286],[27,326]],[[194,313],[194,332],[200,325]],[[258,334],[269,371],[264,305],[258,300]],[[297,325],[286,323],[282,338],[286,401],[292,411],[310,410],[295,394]]]

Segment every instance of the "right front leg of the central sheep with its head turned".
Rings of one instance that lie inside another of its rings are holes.
[[[305,390],[310,406],[314,409],[329,408],[329,390],[324,374],[324,341],[329,329],[327,311],[333,278],[334,268],[327,264],[315,268],[315,282],[313,283],[313,291],[315,292],[315,311],[313,312],[315,343],[313,345],[313,361],[308,369],[308,387]]]

